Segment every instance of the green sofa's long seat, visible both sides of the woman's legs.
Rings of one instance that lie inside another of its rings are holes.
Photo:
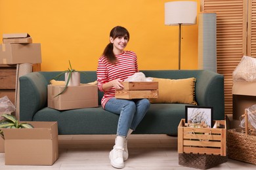
[[[177,135],[179,122],[185,118],[184,112],[183,104],[152,104],[133,133]],[[72,110],[45,107],[33,116],[33,121],[58,122],[59,135],[116,134],[118,120],[118,114],[102,107]]]

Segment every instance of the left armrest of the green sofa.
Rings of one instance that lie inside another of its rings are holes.
[[[20,120],[32,121],[33,115],[47,105],[47,80],[39,72],[20,76]]]

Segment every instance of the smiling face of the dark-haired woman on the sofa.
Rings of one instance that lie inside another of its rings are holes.
[[[123,53],[123,50],[127,46],[128,41],[129,41],[129,38],[126,34],[124,36],[116,37],[116,39],[113,39],[113,37],[110,37],[110,42],[113,44],[114,54],[117,55],[117,54]]]

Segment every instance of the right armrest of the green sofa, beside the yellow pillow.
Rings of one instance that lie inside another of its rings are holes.
[[[204,70],[196,81],[198,105],[213,107],[213,119],[224,120],[224,76]]]

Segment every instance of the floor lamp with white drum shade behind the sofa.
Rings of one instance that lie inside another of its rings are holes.
[[[181,69],[181,25],[196,24],[196,1],[165,3],[165,25],[179,25],[179,69]]]

